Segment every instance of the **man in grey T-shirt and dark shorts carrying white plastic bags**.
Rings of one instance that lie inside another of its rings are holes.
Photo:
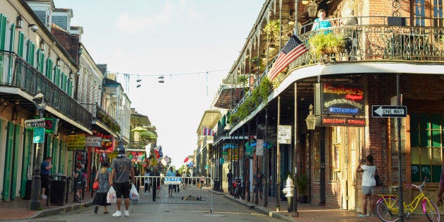
[[[131,179],[134,183],[134,168],[132,168],[131,160],[125,156],[124,148],[119,149],[119,155],[112,160],[111,168],[110,185],[116,190],[117,196],[117,211],[112,216],[122,216],[122,211],[120,211],[122,196],[125,203],[124,216],[129,216],[129,191],[131,190],[129,180]]]

